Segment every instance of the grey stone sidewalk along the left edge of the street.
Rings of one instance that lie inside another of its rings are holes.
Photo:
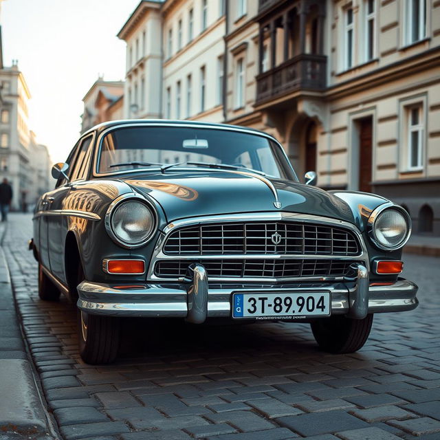
[[[0,224],[0,238],[5,234]],[[50,440],[47,415],[23,344],[8,265],[0,248],[0,440]]]

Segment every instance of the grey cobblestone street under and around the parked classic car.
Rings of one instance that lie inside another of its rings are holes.
[[[78,355],[76,311],[37,294],[32,216],[3,248],[28,347],[60,439],[440,439],[440,259],[407,254],[410,312],[376,315],[365,347],[318,351],[309,325],[123,322],[120,356]]]

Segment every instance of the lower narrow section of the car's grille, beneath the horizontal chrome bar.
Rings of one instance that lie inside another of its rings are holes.
[[[155,265],[159,278],[185,276],[191,263],[196,261],[162,260]],[[353,276],[355,261],[331,259],[219,259],[203,260],[210,278],[300,278],[325,276]]]

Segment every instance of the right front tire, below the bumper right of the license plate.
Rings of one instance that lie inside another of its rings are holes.
[[[311,322],[311,331],[320,349],[329,353],[353,353],[364,347],[372,324],[372,314],[364,319],[334,316]]]

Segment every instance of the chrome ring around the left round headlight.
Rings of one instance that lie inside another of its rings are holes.
[[[142,203],[146,206],[146,208],[151,212],[153,215],[153,228],[151,228],[150,234],[146,236],[145,239],[143,239],[140,242],[137,243],[127,243],[126,241],[123,241],[118,237],[117,234],[115,234],[113,230],[113,224],[112,224],[112,218],[113,213],[115,212],[116,208],[118,208],[122,203],[126,203],[129,201],[136,201],[137,203]],[[137,194],[136,192],[128,192],[126,194],[120,195],[116,199],[114,199],[110,205],[109,208],[107,208],[107,212],[105,213],[104,217],[104,225],[105,229],[107,230],[107,234],[109,234],[110,238],[119,246],[126,249],[137,249],[142,248],[142,246],[146,245],[151,239],[153,238],[155,232],[157,231],[157,211],[153,203],[146,199],[145,197],[142,197],[141,195]]]

